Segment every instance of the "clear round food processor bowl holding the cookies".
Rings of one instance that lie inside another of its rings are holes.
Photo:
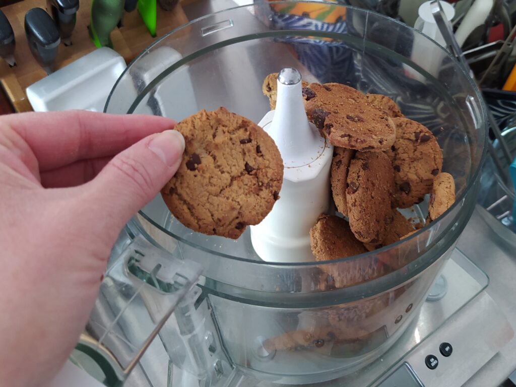
[[[417,316],[475,206],[487,126],[479,91],[436,42],[380,14],[321,2],[237,7],[172,31],[127,67],[105,111],[180,121],[224,106],[259,122],[269,110],[264,77],[287,67],[309,82],[388,95],[427,126],[454,176],[455,204],[398,243],[328,262],[264,262],[249,230],[237,240],[192,232],[159,195],[128,230],[202,265],[196,308],[207,305],[203,321],[230,368],[301,384],[377,359]],[[425,224],[427,203],[404,215]]]

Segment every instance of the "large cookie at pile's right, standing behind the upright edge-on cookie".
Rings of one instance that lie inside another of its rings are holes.
[[[396,141],[392,147],[396,207],[407,208],[423,201],[441,172],[443,155],[432,132],[408,118],[393,118]]]

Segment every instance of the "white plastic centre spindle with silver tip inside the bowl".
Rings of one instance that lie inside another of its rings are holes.
[[[280,71],[276,110],[258,124],[276,142],[284,171],[280,199],[260,224],[250,227],[251,243],[267,262],[313,262],[310,229],[329,209],[333,147],[308,122],[296,69]]]

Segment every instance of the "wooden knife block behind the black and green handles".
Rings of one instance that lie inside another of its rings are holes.
[[[63,43],[59,45],[56,59],[57,69],[68,65],[96,48],[88,35],[90,2],[91,0],[79,0],[77,22],[72,34],[73,44],[68,47]],[[25,89],[46,76],[45,71],[41,69],[30,53],[25,39],[25,13],[34,7],[46,9],[46,0],[24,0],[2,7],[2,11],[4,11],[14,30],[16,39],[14,57],[17,64],[9,68],[7,62],[0,58],[0,84],[14,110],[18,112],[32,110]],[[133,60],[156,39],[169,33],[172,29],[188,23],[188,19],[181,4],[178,4],[172,11],[164,11],[158,6],[156,22],[156,37],[153,38],[143,24],[137,10],[125,13],[123,26],[112,31],[111,40],[114,50],[123,56],[126,63]]]

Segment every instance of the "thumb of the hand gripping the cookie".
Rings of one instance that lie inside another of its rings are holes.
[[[90,183],[88,200],[102,211],[106,228],[117,230],[178,170],[185,149],[181,133],[167,130],[115,156]]]

